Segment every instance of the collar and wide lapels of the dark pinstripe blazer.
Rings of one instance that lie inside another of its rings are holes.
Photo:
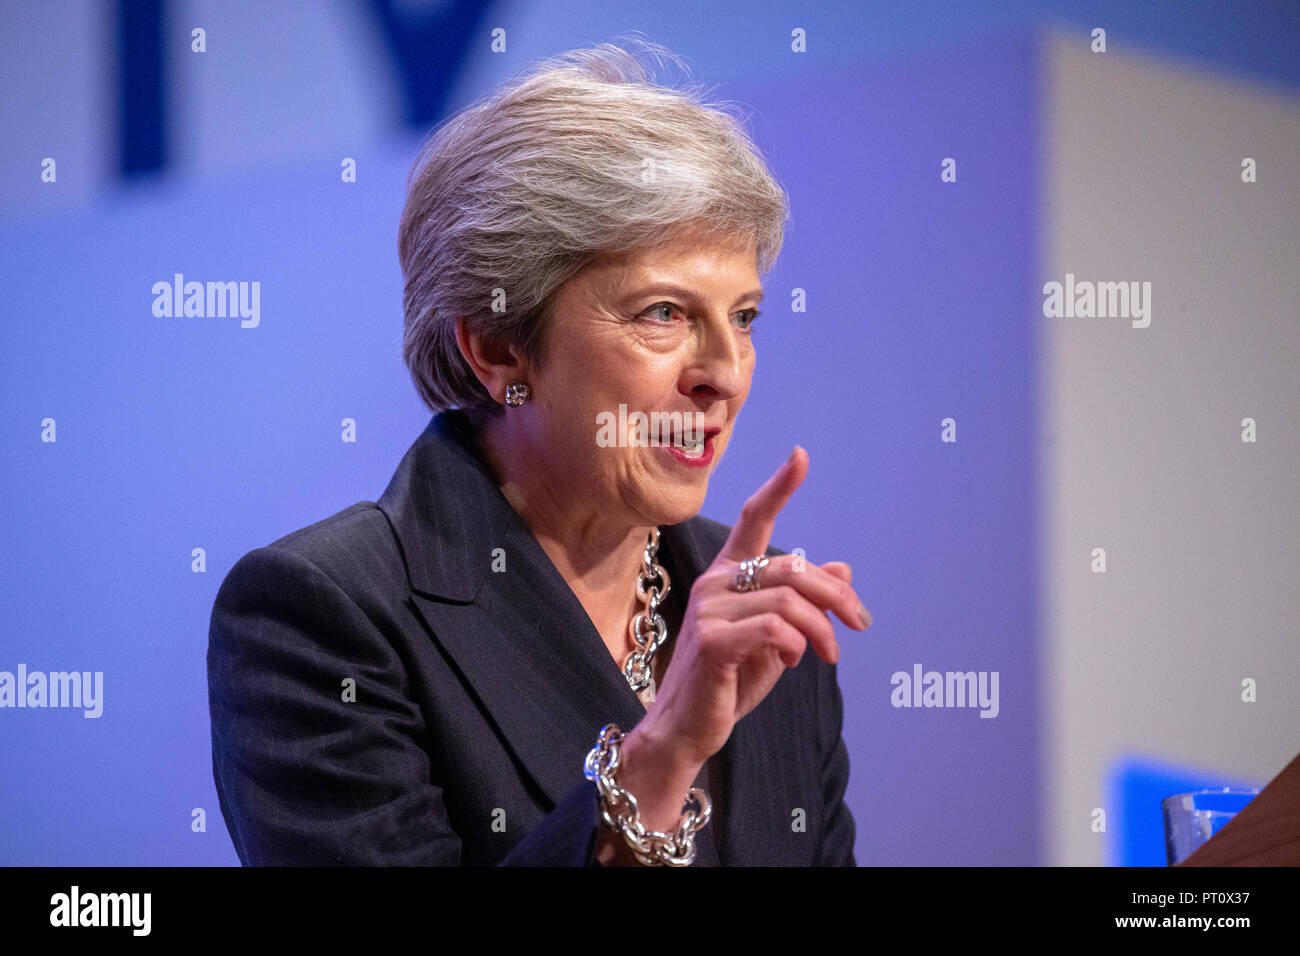
[[[558,804],[599,728],[614,722],[627,732],[645,709],[577,596],[497,488],[463,412],[430,420],[378,506],[433,640]],[[680,628],[690,581],[725,531],[703,518],[660,528],[659,561],[673,585],[663,606],[671,633]],[[584,692],[568,689],[575,687]],[[710,829],[699,834],[699,862],[716,865]]]

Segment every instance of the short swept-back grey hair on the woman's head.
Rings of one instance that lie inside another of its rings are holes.
[[[632,44],[689,73],[667,48]],[[439,124],[411,168],[402,359],[429,408],[481,421],[502,407],[460,354],[459,316],[541,367],[556,290],[601,254],[698,228],[753,242],[766,273],[786,219],[733,104],[658,85],[612,43],[543,60]]]

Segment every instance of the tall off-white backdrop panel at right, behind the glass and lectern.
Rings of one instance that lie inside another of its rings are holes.
[[[1044,52],[1041,281],[1152,291],[1148,328],[1041,319],[1044,848],[1092,865],[1117,756],[1264,782],[1300,750],[1300,99],[1082,31]]]

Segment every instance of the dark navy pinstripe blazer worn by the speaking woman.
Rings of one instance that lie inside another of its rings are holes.
[[[662,529],[671,633],[728,531]],[[645,715],[459,412],[433,418],[378,503],[235,563],[208,687],[246,865],[592,865],[584,757],[603,724]],[[854,865],[841,719],[810,648],[701,771],[714,818],[696,865]]]

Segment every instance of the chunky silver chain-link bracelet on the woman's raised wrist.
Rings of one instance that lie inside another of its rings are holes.
[[[619,771],[621,744],[623,731],[619,730],[619,724],[607,723],[601,728],[595,747],[586,754],[584,773],[601,792],[601,818],[606,826],[623,834],[623,839],[641,865],[690,866],[696,861],[696,834],[705,829],[714,812],[708,795],[699,787],[690,788],[681,808],[676,834],[646,830],[641,823],[637,799],[614,779]]]

